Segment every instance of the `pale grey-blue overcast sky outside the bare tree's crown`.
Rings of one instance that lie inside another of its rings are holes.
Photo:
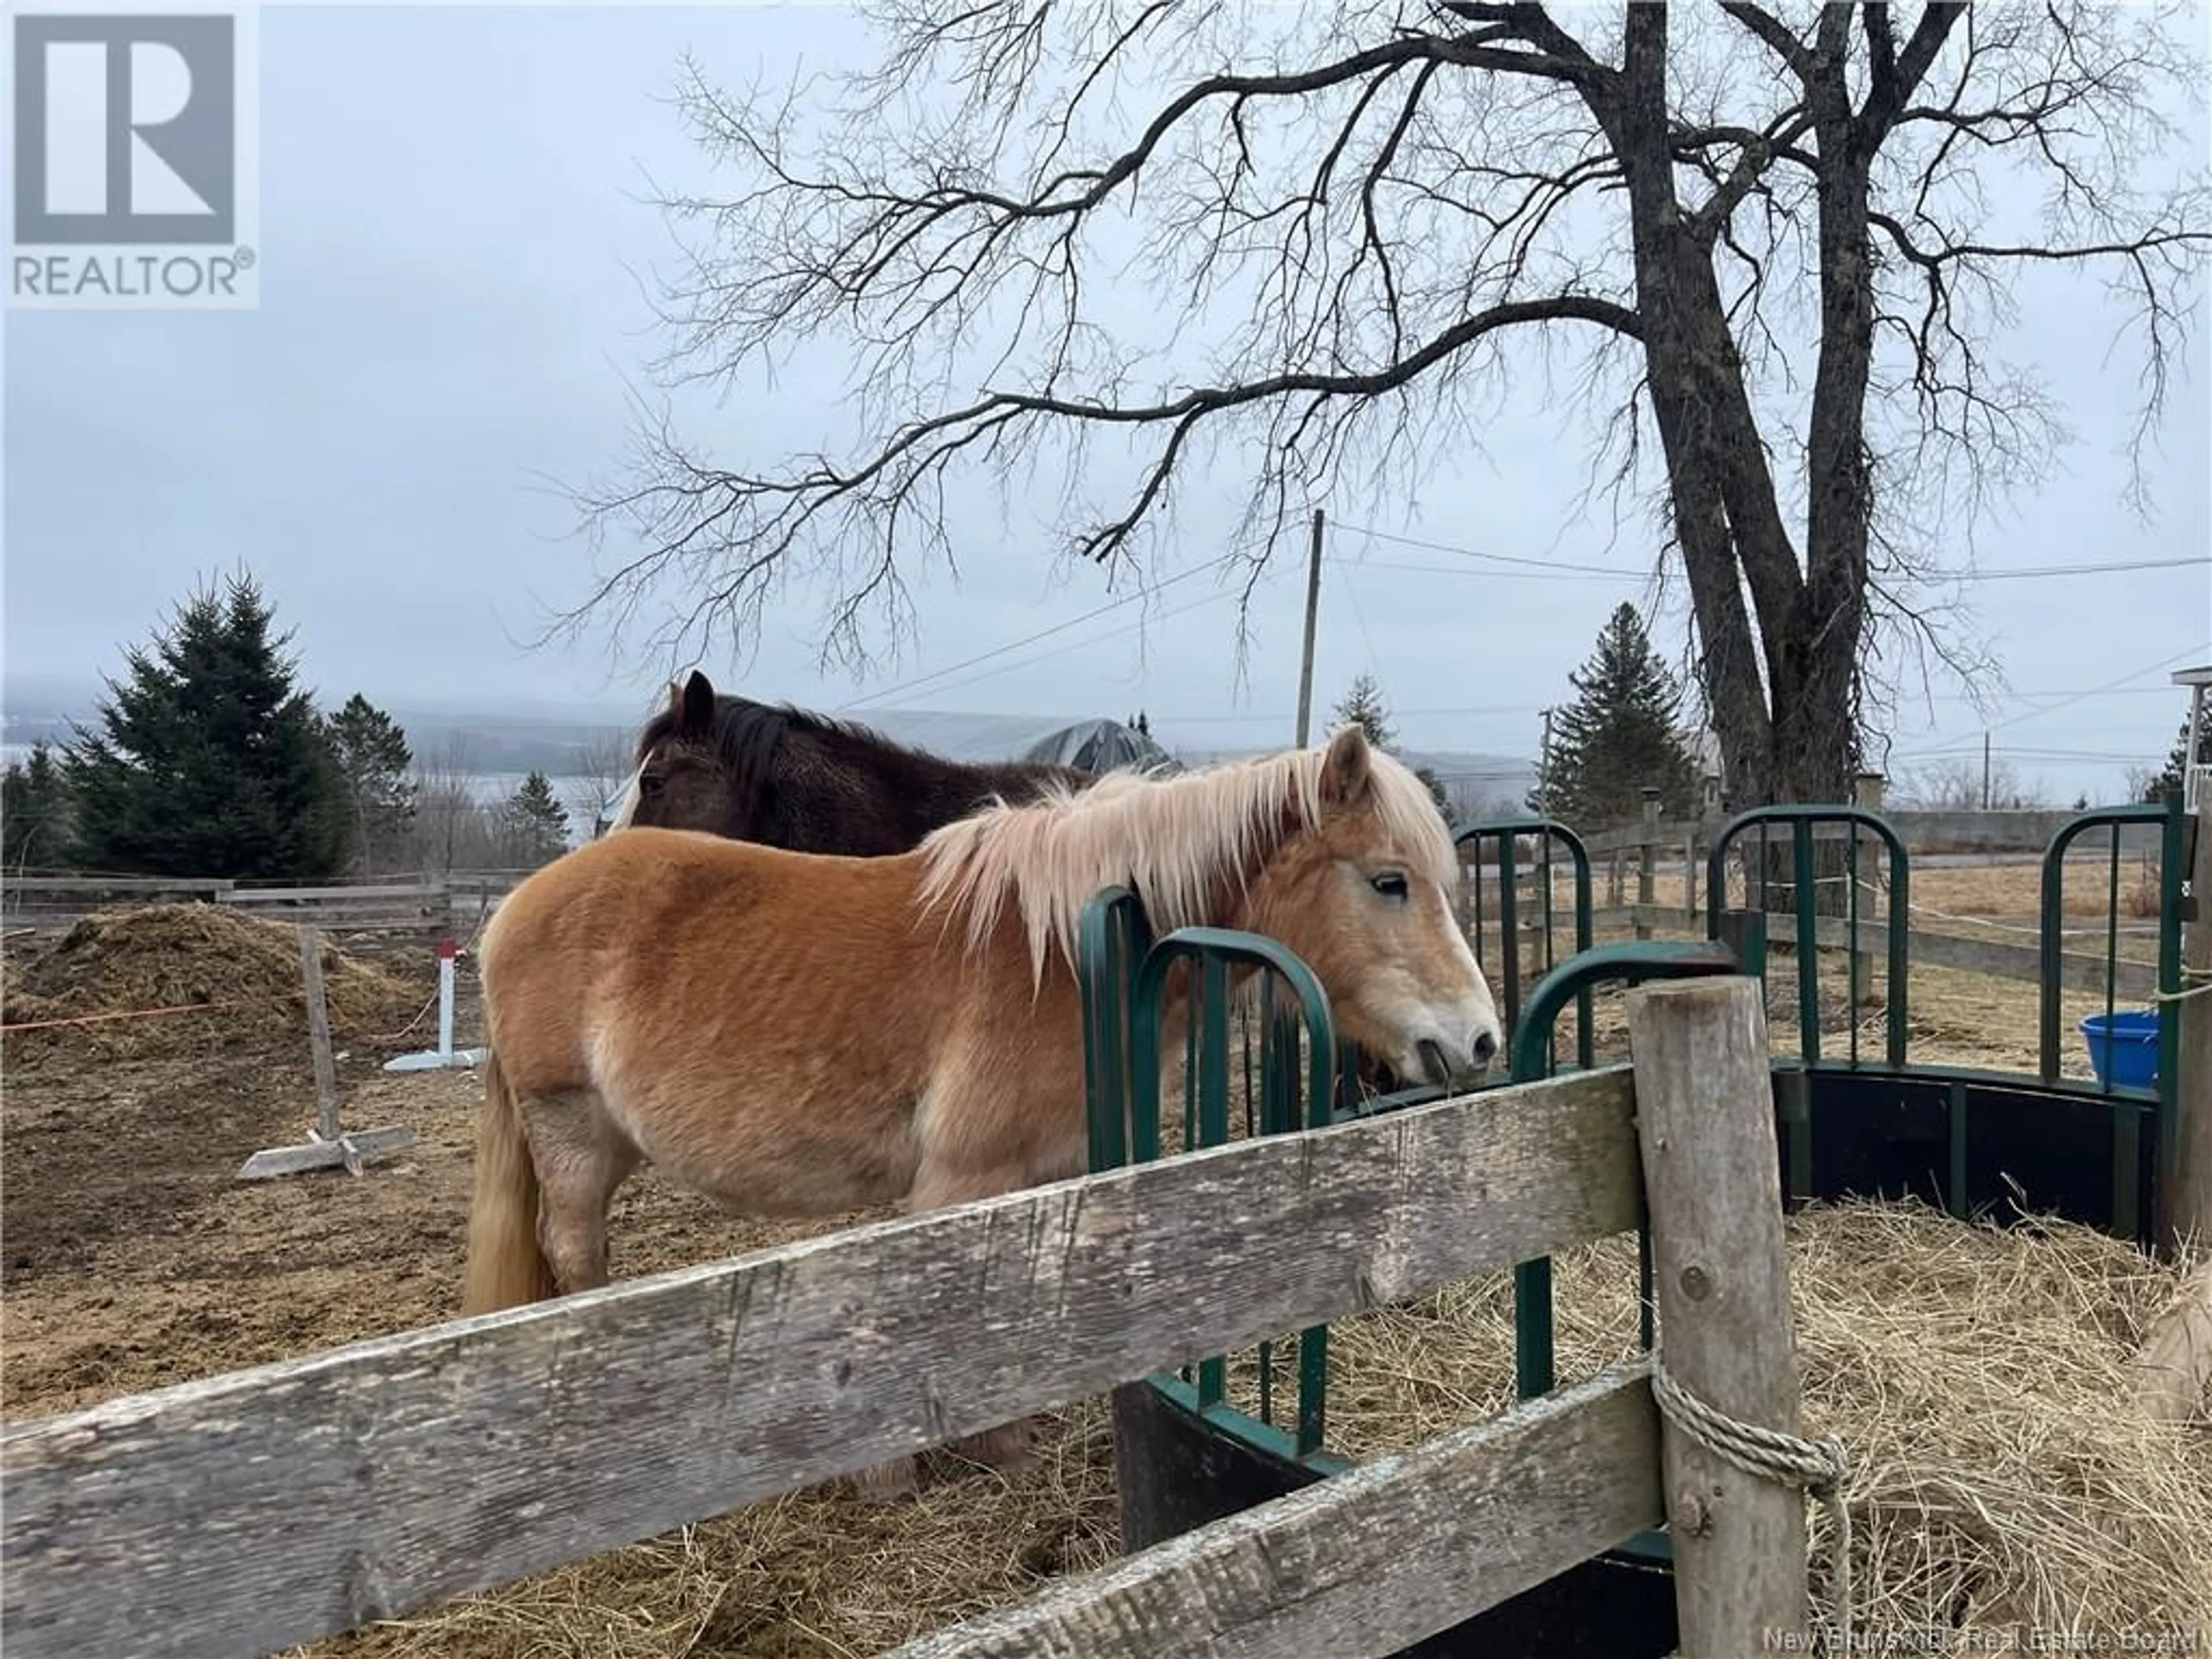
[[[830,7],[268,7],[261,307],[7,314],[9,681],[113,670],[119,644],[142,639],[195,575],[243,560],[296,626],[325,699],[639,708],[664,659],[524,641],[540,606],[577,597],[588,571],[546,480],[617,462],[626,387],[659,345],[639,279],[670,263],[670,241],[639,199],[646,175],[710,184],[666,104],[686,49],[743,80],[801,53],[834,64],[865,38]],[[1984,529],[1984,571],[2212,549],[2203,338],[2174,387],[2152,476],[2159,515],[2143,526],[2119,511],[2135,367],[2106,361],[2095,294],[2064,279],[2017,292],[2020,330],[2079,442],[2011,522]],[[803,387],[790,398],[717,409],[692,436],[732,462],[774,462],[807,409]],[[1542,706],[1568,695],[1568,670],[1606,613],[1639,595],[1646,566],[1635,533],[1615,542],[1568,513],[1582,453],[1540,414],[1522,400],[1486,456],[1438,471],[1387,518],[1325,502],[1340,522],[1323,580],[1321,708],[1371,670],[1407,741],[1533,752]],[[1208,526],[1232,522],[1245,484],[1183,484],[1179,557],[1219,553]],[[1225,650],[1232,599],[1203,575],[1000,650],[1121,588],[1053,573],[989,502],[978,495],[958,529],[960,588],[940,577],[918,591],[916,655],[869,681],[823,675],[805,641],[814,615],[792,615],[741,686],[825,708],[1144,706],[1170,739],[1290,741],[1301,568],[1283,562],[1259,593],[1243,688]],[[1471,557],[1482,553],[1621,575]],[[2183,712],[2168,672],[2212,641],[2205,566],[1991,580],[1971,597],[2015,688],[1995,745],[2017,772],[2053,792],[2112,794],[2126,765],[2163,759]],[[1679,639],[1677,615],[1663,644]],[[998,655],[958,668],[984,653]],[[726,661],[706,666],[737,681]],[[1984,721],[1955,690],[1938,686],[1933,726],[1927,714],[1918,701],[1902,710],[1893,770],[1980,754]]]

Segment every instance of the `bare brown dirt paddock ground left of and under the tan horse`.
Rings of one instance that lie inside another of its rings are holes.
[[[95,1068],[69,1053],[11,1064],[7,1416],[453,1318],[480,1086],[460,1068],[380,1071],[396,1048],[338,1051],[341,1124],[416,1133],[361,1179],[237,1179],[254,1150],[314,1124],[305,1035]],[[617,1197],[615,1272],[807,1230],[732,1221],[646,1172]]]

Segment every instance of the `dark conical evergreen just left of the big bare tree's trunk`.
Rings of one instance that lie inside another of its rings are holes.
[[[1615,608],[1568,684],[1575,701],[1553,717],[1528,807],[1604,830],[1637,818],[1644,785],[1657,785],[1666,816],[1694,816],[1697,761],[1674,728],[1681,686],[1652,653],[1635,606]]]

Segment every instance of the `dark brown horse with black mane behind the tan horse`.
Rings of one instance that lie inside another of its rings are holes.
[[[699,670],[637,734],[615,830],[706,830],[792,852],[880,858],[987,801],[1035,801],[1091,772],[1044,761],[969,765],[894,743],[867,726],[790,703],[714,692]]]

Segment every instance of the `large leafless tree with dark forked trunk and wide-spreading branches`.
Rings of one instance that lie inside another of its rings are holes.
[[[865,659],[951,557],[964,478],[1066,478],[1062,553],[1117,562],[1208,453],[1256,469],[1256,580],[1305,502],[1402,498],[1573,352],[1553,403],[1588,420],[1593,489],[1644,493],[1657,568],[1679,555],[1725,803],[1849,799],[1885,641],[1989,684],[1933,526],[2066,436],[2000,352],[2015,276],[2108,279],[2139,447],[2205,268],[2170,115],[2203,66],[2166,4],[869,11],[880,62],[816,108],[692,66],[737,184],[664,204],[697,230],[675,383],[849,345],[858,434],[776,469],[641,429],[635,476],[584,495],[630,551],[575,626],[672,584],[675,644],[745,644],[807,580],[825,659]],[[1115,296],[1117,265],[1159,303]]]

